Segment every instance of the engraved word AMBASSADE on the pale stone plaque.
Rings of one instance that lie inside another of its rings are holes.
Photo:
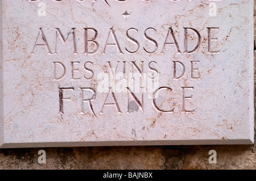
[[[194,28],[189,28],[189,27],[185,27],[183,29],[184,29],[184,53],[193,53],[196,50],[198,50],[200,47],[200,44],[201,44],[200,32],[195,30]],[[75,35],[76,28],[71,28],[71,30],[68,32],[67,37],[64,37],[63,33],[60,31],[60,28],[55,28],[55,30],[56,30],[55,54],[57,54],[58,37],[62,41],[63,45],[67,44],[67,41],[69,41],[69,39],[72,39],[70,41],[73,41],[73,54],[77,54],[76,35]],[[96,39],[98,37],[98,31],[94,28],[83,28],[83,30],[84,30],[84,35],[83,35],[84,54],[96,54],[101,47],[100,44],[96,41]],[[158,49],[158,43],[156,42],[156,40],[152,39],[148,35],[149,34],[148,32],[151,30],[156,32],[156,30],[151,27],[147,28],[144,31],[144,38],[146,39],[146,41],[149,41],[151,44],[154,44],[153,46],[155,47],[155,48],[154,47],[147,48],[147,46],[144,46],[143,51],[148,54],[155,53],[156,50]],[[212,34],[213,30],[218,30],[218,28],[208,28],[208,53],[219,53],[220,50],[218,50],[218,51],[212,50],[213,41],[217,41],[217,37],[214,37],[214,38],[212,37],[212,36],[214,36]],[[131,36],[131,33],[133,33],[133,31],[138,33],[138,30],[136,28],[129,28],[126,31],[126,37],[135,46],[131,47],[131,48],[124,47],[125,52],[131,53],[131,54],[139,52],[139,49],[140,49],[140,43],[139,43],[138,39],[135,39],[133,36]],[[90,32],[92,33],[92,35],[90,35]],[[72,37],[69,38],[69,36],[72,36]],[[110,36],[112,36],[112,37],[110,37]],[[42,40],[40,40],[40,39],[42,39]],[[194,41],[194,43],[192,42],[192,40]],[[191,41],[192,44],[189,41]],[[117,39],[117,36],[115,35],[115,31],[114,31],[113,27],[109,29],[109,33],[108,33],[102,54],[106,54],[106,51],[110,52],[111,48],[110,48],[110,50],[107,50],[108,45],[114,46],[115,48],[117,48],[117,53],[123,54],[122,47],[119,44],[119,41]],[[162,52],[160,52],[160,54],[164,54],[164,52],[167,49],[166,48],[167,45],[174,45],[176,48],[176,53],[181,53],[179,44],[174,35],[174,31],[173,31],[172,27],[168,28],[167,36],[165,37],[164,44],[163,44],[163,49],[162,49]],[[42,28],[39,29],[39,33],[36,38],[34,47],[32,48],[31,54],[34,54],[35,47],[37,47],[37,46],[46,47],[48,54],[52,54],[51,50],[49,49],[49,45],[46,41],[46,37],[44,36],[44,32],[42,31]],[[151,50],[151,49],[154,49],[154,50]]]

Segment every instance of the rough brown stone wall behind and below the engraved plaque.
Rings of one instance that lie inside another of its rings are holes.
[[[255,30],[254,25],[254,39]],[[46,164],[38,163],[40,149],[46,151]],[[209,150],[217,151],[217,164],[208,162]],[[0,169],[256,169],[256,145],[0,149]]]

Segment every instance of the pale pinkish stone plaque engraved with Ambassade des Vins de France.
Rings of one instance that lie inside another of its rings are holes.
[[[1,1],[1,148],[252,144],[253,1]]]

